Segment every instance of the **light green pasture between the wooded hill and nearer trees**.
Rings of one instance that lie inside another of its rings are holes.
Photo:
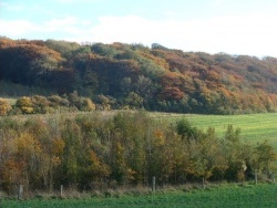
[[[277,113],[244,115],[151,113],[151,116],[156,121],[167,121],[173,124],[177,119],[186,118],[192,125],[204,131],[209,126],[214,127],[219,137],[224,136],[227,126],[232,124],[235,128],[240,128],[245,142],[256,144],[268,141],[277,149]]]

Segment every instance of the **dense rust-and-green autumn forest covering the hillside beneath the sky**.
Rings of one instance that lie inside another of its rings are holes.
[[[276,63],[275,58],[183,52],[156,43],[80,45],[0,38],[0,85],[59,95],[76,91],[92,101],[103,95],[112,108],[276,112]],[[0,89],[1,96],[14,96],[12,89]]]

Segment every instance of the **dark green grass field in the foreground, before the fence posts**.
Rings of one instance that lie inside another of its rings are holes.
[[[51,200],[2,200],[4,208],[73,208],[73,207],[277,207],[277,185],[224,185],[191,190],[160,190],[155,194],[140,196],[91,197],[84,199],[51,199]]]

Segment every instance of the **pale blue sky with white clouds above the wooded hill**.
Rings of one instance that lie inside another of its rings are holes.
[[[0,35],[277,58],[277,1],[0,0]]]

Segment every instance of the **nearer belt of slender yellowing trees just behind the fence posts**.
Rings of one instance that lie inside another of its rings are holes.
[[[244,181],[270,176],[276,154],[266,142],[249,146],[229,125],[223,138],[185,118],[164,124],[144,112],[2,117],[0,119],[0,181],[11,193],[78,190],[206,180]]]

